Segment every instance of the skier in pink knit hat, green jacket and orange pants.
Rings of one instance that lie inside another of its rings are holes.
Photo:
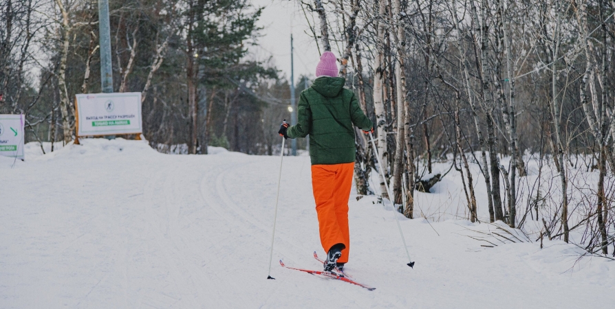
[[[325,271],[343,271],[348,262],[348,198],[354,172],[354,126],[365,133],[374,124],[361,110],[354,93],[345,89],[346,79],[338,77],[336,57],[324,52],[316,66],[312,87],[301,91],[298,122],[283,122],[279,134],[284,138],[310,135],[312,189],[319,219],[321,244],[327,252]],[[353,126],[354,125],[354,126]]]

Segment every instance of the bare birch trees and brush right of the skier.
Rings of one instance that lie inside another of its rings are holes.
[[[407,217],[414,192],[441,177],[432,163],[452,159],[469,220],[479,220],[477,207],[510,227],[539,220],[541,184],[533,184],[535,196],[521,192],[532,159],[538,182],[543,163],[557,170],[559,193],[550,196],[557,211],[542,218],[543,233],[568,242],[576,229],[585,249],[607,254],[614,243],[615,1],[301,3],[319,49],[340,53],[340,76],[376,120],[387,172],[375,175],[380,192],[388,198],[384,186],[392,182],[390,198],[406,205]],[[357,190],[367,194],[374,150],[364,136],[357,141]],[[598,171],[595,186],[579,187],[583,164]],[[486,188],[487,205],[477,205],[477,185]]]

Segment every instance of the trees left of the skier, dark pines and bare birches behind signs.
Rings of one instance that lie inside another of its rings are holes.
[[[272,151],[263,114],[284,117],[290,91],[271,59],[250,54],[261,11],[247,0],[109,1],[113,89],[142,93],[151,146]],[[0,113],[25,114],[28,141],[68,143],[74,95],[101,92],[98,2],[2,1],[0,21]]]

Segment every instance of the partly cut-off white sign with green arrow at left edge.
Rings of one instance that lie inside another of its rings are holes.
[[[23,115],[0,115],[0,156],[23,160]]]

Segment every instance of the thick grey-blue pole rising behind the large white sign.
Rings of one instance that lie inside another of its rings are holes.
[[[104,93],[114,92],[114,77],[111,68],[111,34],[109,32],[109,0],[98,0],[100,87]]]

